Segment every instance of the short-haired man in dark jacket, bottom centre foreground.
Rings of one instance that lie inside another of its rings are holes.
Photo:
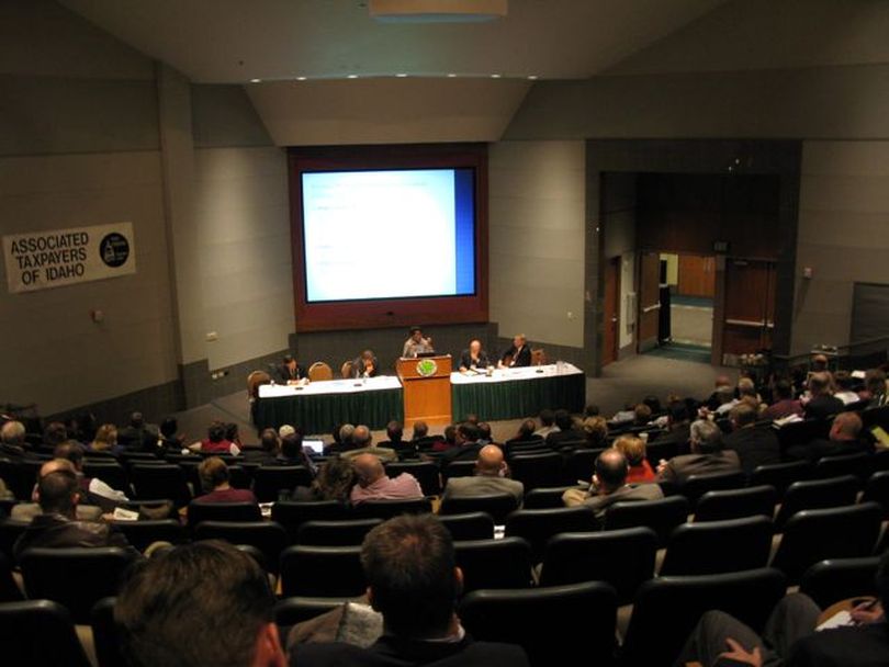
[[[527,667],[520,647],[474,642],[461,626],[455,604],[463,573],[450,533],[432,515],[404,515],[371,530],[361,546],[361,566],[368,599],[383,617],[382,636],[367,648],[299,644],[291,647],[292,666]]]

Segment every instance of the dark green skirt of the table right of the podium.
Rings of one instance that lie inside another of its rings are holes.
[[[586,376],[583,373],[451,385],[455,421],[470,412],[483,421],[533,417],[543,408],[581,412],[585,400]]]

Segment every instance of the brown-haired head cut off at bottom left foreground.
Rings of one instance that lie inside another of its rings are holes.
[[[284,667],[274,593],[248,554],[207,540],[139,563],[114,603],[132,667]]]

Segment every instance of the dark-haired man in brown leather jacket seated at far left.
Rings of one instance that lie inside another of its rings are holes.
[[[46,465],[55,463],[48,462]],[[80,485],[74,466],[56,465],[42,475],[37,483],[37,501],[42,513],[34,517],[29,527],[15,541],[13,556],[20,561],[22,554],[35,546],[122,546],[130,547],[126,538],[101,521],[81,521],[77,518],[80,502]],[[47,468],[49,470],[49,468]],[[132,547],[131,547],[132,549]]]

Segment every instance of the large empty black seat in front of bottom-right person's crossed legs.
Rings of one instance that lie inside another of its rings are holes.
[[[762,632],[787,588],[772,568],[659,577],[641,586],[621,647],[621,664],[669,667],[704,612],[724,611]]]

